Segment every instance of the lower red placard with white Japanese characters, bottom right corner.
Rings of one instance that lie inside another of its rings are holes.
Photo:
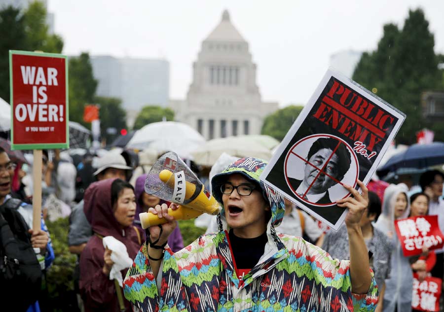
[[[438,277],[426,277],[418,280],[418,275],[413,274],[413,293],[411,307],[419,311],[440,311],[441,284],[443,280]]]

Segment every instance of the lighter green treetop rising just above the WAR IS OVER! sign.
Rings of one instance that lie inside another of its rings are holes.
[[[31,51],[61,53],[63,39],[59,35],[49,35],[46,15],[46,7],[40,1],[31,2],[25,11],[24,22],[28,48]]]

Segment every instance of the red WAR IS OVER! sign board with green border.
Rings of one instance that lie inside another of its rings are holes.
[[[9,51],[12,149],[69,148],[68,62]]]

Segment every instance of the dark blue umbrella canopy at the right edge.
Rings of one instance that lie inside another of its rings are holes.
[[[392,156],[384,166],[377,170],[379,176],[407,168],[425,169],[444,164],[444,142],[413,144],[405,151]]]

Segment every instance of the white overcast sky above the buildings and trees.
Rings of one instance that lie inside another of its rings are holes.
[[[383,24],[402,27],[417,7],[444,53],[442,0],[48,0],[65,54],[164,58],[172,99],[185,99],[201,42],[227,9],[249,42],[263,100],[280,106],[305,104],[332,54],[373,50]]]

